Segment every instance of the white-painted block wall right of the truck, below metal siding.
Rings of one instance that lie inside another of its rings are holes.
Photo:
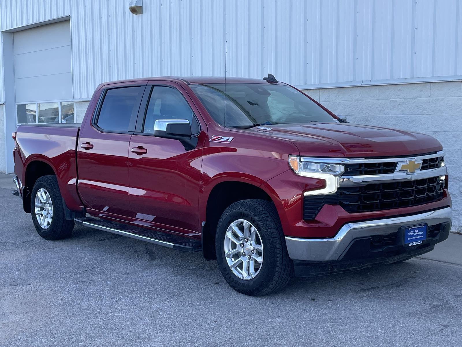
[[[453,232],[462,233],[462,81],[304,91],[348,122],[436,137],[446,153]]]

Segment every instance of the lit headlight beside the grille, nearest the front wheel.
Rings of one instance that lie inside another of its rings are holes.
[[[330,194],[336,192],[339,186],[338,176],[345,172],[345,166],[341,164],[322,162],[322,159],[319,161],[304,161],[297,155],[289,155],[289,166],[294,173],[300,176],[326,181],[325,187],[304,192],[304,195]]]

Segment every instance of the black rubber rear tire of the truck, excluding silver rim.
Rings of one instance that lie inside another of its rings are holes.
[[[53,217],[49,227],[46,229],[40,226],[35,214],[35,198],[37,191],[41,188],[44,188],[49,193],[53,204]],[[61,240],[69,237],[74,229],[74,221],[67,220],[64,215],[61,192],[56,176],[42,176],[35,182],[30,197],[30,211],[35,229],[38,235],[42,236],[44,239]]]

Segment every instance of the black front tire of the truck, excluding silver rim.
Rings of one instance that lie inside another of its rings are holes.
[[[241,279],[235,275],[225,258],[225,234],[232,222],[245,219],[259,231],[263,245],[263,261],[253,279]],[[280,291],[289,283],[293,273],[292,260],[287,254],[286,241],[274,204],[260,199],[237,201],[221,216],[215,239],[218,266],[226,282],[235,291],[261,296]]]

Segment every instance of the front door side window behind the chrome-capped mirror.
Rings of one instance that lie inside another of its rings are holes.
[[[193,110],[180,91],[175,88],[157,86],[152,89],[143,132],[152,134],[154,123],[158,119],[187,119],[191,124],[191,133],[199,132],[199,124]]]

